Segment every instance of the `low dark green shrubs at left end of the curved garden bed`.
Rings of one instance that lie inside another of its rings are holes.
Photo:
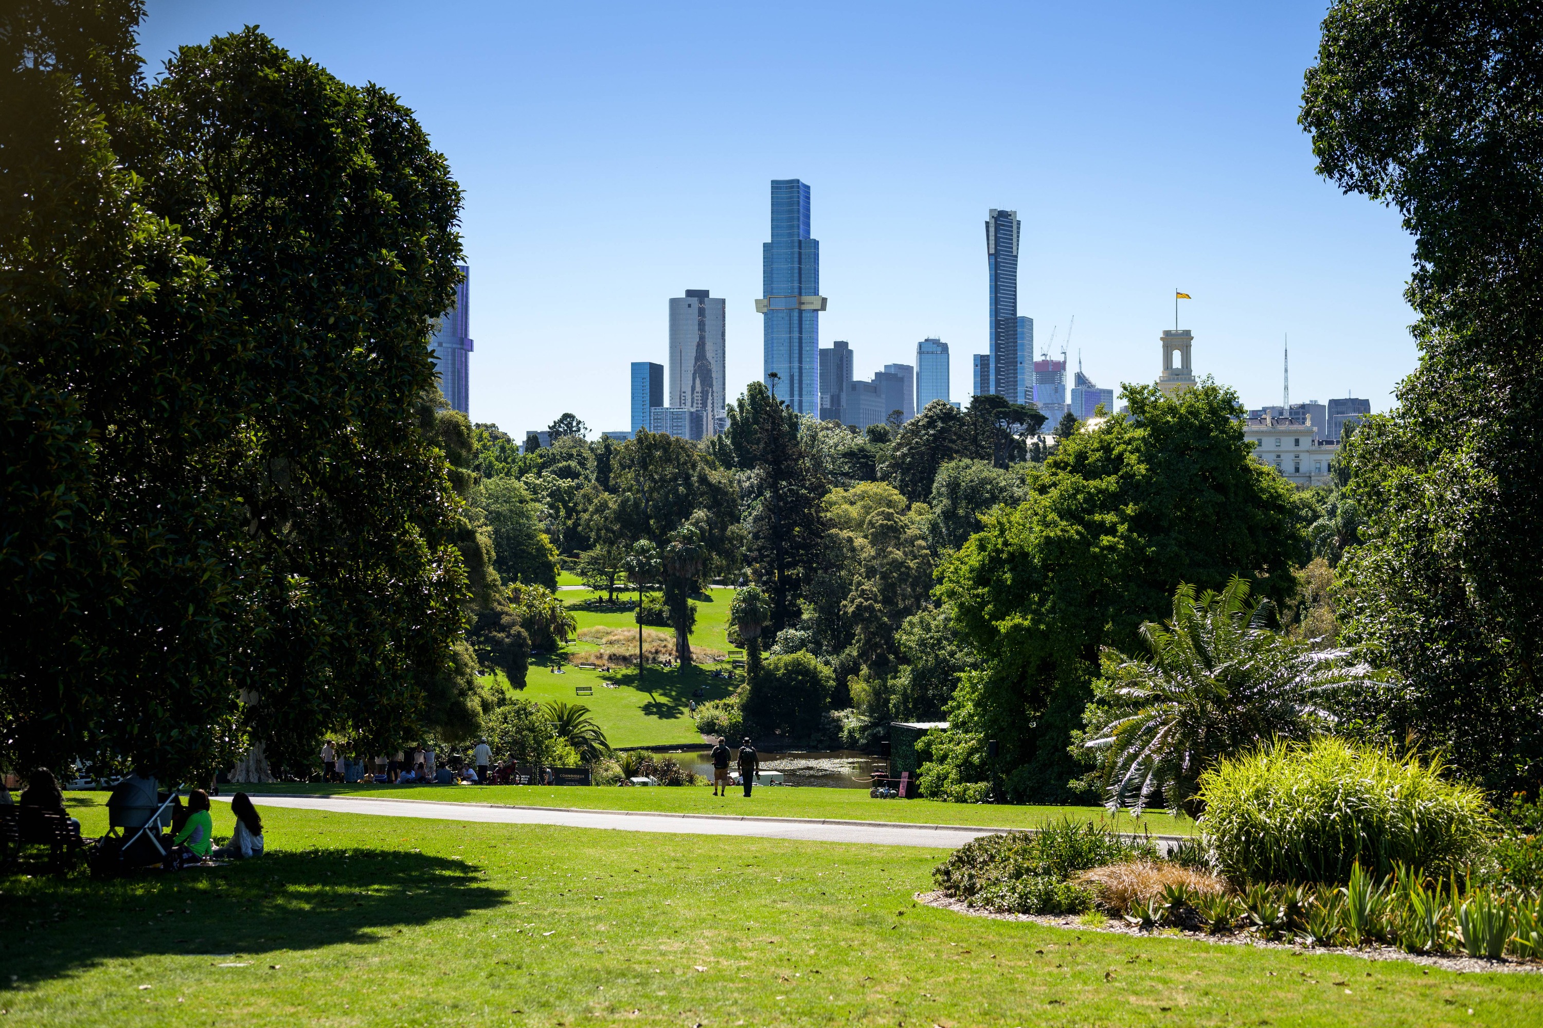
[[[1156,857],[1150,841],[1128,840],[1108,827],[1063,818],[1035,832],[984,835],[932,871],[944,895],[1017,914],[1082,914],[1094,906],[1092,892],[1074,881],[1091,867]]]

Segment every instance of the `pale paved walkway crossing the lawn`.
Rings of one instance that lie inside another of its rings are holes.
[[[219,796],[224,800],[224,796]],[[878,846],[929,846],[955,849],[1006,829],[954,824],[895,824],[863,821],[816,821],[810,818],[758,818],[713,813],[633,813],[626,810],[574,810],[509,807],[481,803],[435,803],[429,800],[367,800],[355,796],[253,796],[259,807],[330,810],[392,818],[480,821],[485,824],[560,824],[620,832],[670,832],[673,835],[750,835],[795,838],[812,843],[873,843]]]

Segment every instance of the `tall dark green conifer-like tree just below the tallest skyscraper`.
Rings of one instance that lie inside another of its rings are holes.
[[[799,438],[798,414],[764,383],[750,383],[728,407],[724,438],[745,474],[745,557],[772,599],[772,630],[782,631],[798,619],[799,590],[821,551],[829,485]]]

